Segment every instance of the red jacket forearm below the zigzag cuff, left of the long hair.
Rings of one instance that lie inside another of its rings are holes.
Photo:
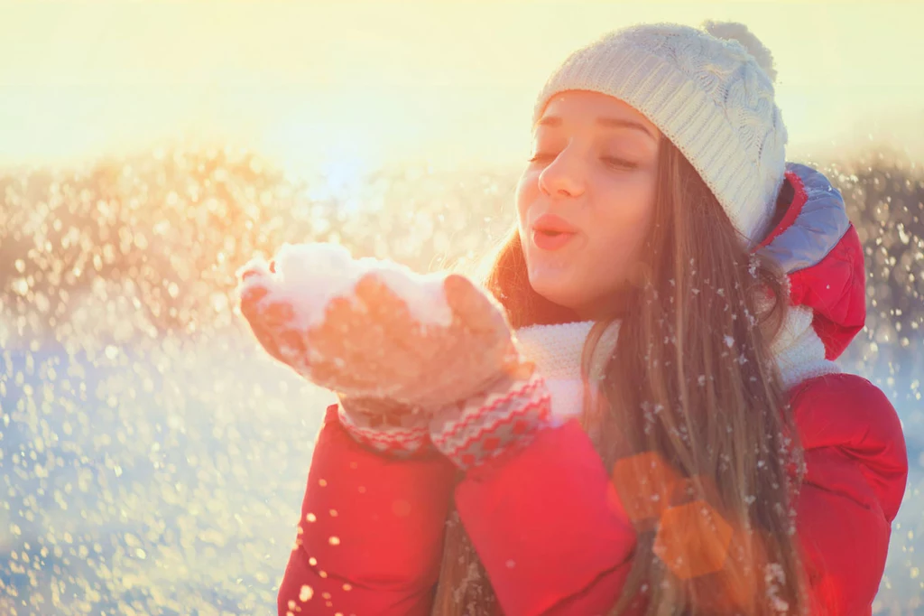
[[[468,470],[456,507],[506,616],[603,614],[635,531],[576,421]]]

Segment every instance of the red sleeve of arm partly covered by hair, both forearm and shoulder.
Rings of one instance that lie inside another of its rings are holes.
[[[882,392],[822,376],[792,395],[807,474],[796,527],[810,613],[871,613],[901,503],[907,458]],[[603,614],[619,597],[634,530],[577,422],[473,466],[456,506],[507,616]]]

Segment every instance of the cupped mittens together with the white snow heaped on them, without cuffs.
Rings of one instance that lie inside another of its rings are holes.
[[[503,310],[466,277],[354,260],[331,244],[286,245],[274,266],[256,260],[238,274],[241,312],[264,349],[346,399],[390,400],[387,415],[432,412],[518,369]],[[342,416],[357,429],[390,424]]]

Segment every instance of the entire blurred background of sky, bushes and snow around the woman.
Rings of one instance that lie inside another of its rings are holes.
[[[924,614],[924,3],[496,0],[0,0],[0,613],[274,613],[333,398],[242,326],[237,267],[308,240],[472,263],[553,68],[706,18],[772,50],[789,158],[864,242],[840,363],[911,466],[875,611]]]

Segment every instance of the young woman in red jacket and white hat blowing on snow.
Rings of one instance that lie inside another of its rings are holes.
[[[535,109],[492,297],[451,326],[376,277],[263,346],[340,394],[279,589],[289,614],[871,613],[906,485],[838,191],[784,162],[772,59],[739,24],[616,31]],[[387,392],[387,394],[383,394]]]

